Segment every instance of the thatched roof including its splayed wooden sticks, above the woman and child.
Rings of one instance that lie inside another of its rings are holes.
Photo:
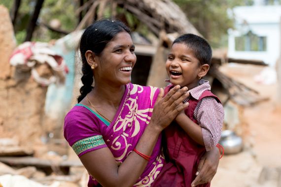
[[[172,0],[89,0],[80,7],[76,14],[89,8],[76,30],[80,30],[93,21],[97,13],[98,19],[104,16],[105,7],[110,7],[111,16],[116,16],[116,8],[122,7],[134,14],[140,22],[156,36],[164,30],[167,33],[178,32],[201,35],[188,21],[184,12]]]

